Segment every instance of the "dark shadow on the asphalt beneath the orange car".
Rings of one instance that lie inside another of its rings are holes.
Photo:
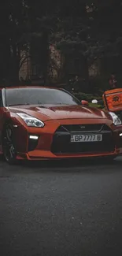
[[[20,161],[8,165],[0,159],[0,167],[12,173],[116,173],[122,171],[122,157],[107,161],[105,158],[86,158],[55,161]]]

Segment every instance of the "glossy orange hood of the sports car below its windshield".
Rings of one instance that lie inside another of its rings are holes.
[[[84,106],[13,106],[9,107],[14,113],[26,113],[42,121],[55,119],[76,118],[107,118],[102,109],[88,108]]]

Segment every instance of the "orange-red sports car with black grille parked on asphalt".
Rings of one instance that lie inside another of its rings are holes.
[[[87,107],[64,89],[6,87],[0,104],[0,150],[9,164],[122,152],[116,114]]]

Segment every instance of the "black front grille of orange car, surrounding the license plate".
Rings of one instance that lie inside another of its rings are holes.
[[[81,125],[63,125],[57,129],[54,134],[54,139],[51,147],[51,151],[54,154],[97,154],[102,152],[113,152],[115,150],[115,143],[113,140],[112,130],[105,124],[83,124],[87,126],[85,132],[90,134],[102,134],[102,142],[87,142],[87,143],[71,143],[71,135],[79,133],[79,126]],[[93,127],[92,127],[93,125]],[[72,128],[73,127],[73,128]],[[75,128],[77,127],[77,130]],[[66,128],[68,128],[66,130]],[[68,132],[70,128],[71,132]],[[72,129],[71,129],[72,128]],[[94,131],[94,128],[98,128],[98,132]],[[91,129],[91,130],[90,130]],[[83,131],[84,132],[84,131]],[[82,132],[80,131],[80,134]]]

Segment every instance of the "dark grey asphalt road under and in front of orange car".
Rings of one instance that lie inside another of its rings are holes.
[[[122,158],[0,161],[0,255],[122,255]]]

